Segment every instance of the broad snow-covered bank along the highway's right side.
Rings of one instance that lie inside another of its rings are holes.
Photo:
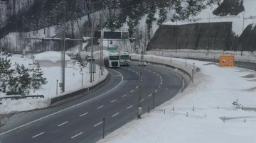
[[[170,57],[145,59],[170,64]],[[191,59],[185,67],[184,59],[172,58],[171,65],[191,71],[193,63],[201,72],[183,93],[99,142],[256,142],[255,71]],[[237,99],[240,108],[232,104]]]

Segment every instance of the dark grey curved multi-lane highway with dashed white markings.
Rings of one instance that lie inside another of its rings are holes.
[[[137,118],[139,103],[139,67],[108,69],[110,81],[101,88],[74,101],[14,115],[0,127],[1,143],[17,142],[97,142],[105,135]],[[161,105],[181,91],[183,81],[166,69],[142,67],[141,105]],[[103,122],[105,118],[105,122]],[[142,115],[143,118],[143,115]]]

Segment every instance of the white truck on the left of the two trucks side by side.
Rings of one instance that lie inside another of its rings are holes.
[[[120,67],[119,53],[110,52],[107,57],[104,57],[104,64],[106,67]]]

